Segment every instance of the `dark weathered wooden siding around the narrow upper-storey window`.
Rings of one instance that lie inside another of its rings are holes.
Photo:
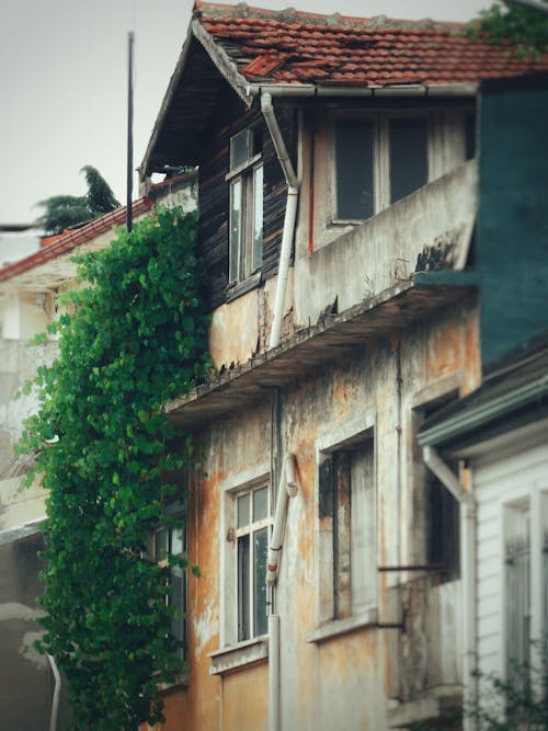
[[[276,117],[289,153],[295,158],[295,111],[276,107]],[[284,173],[259,106],[246,110],[233,94],[219,99],[199,168],[199,247],[207,269],[208,304],[215,309],[226,300],[228,285],[228,210],[230,137],[247,127],[259,127],[263,140],[264,225],[262,276],[277,271],[279,244],[285,216],[286,184]]]

